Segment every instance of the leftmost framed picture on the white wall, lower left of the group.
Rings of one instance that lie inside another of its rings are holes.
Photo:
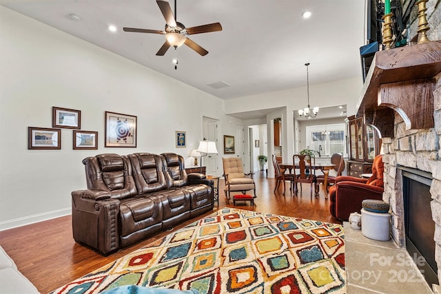
[[[28,127],[28,149],[61,149],[61,129]]]

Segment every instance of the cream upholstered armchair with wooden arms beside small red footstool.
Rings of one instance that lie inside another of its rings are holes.
[[[228,157],[222,158],[223,176],[225,177],[225,196],[229,200],[231,192],[242,192],[253,190],[256,198],[256,184],[254,184],[253,174],[244,174],[242,158]]]

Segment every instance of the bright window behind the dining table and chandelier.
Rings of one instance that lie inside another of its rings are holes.
[[[331,156],[334,153],[347,156],[345,138],[346,125],[344,123],[306,127],[307,149],[320,152],[320,156]]]

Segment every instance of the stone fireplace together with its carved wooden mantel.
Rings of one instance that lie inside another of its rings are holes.
[[[431,255],[441,281],[441,41],[377,52],[357,116],[364,117],[366,124],[374,125],[382,134],[383,200],[390,204],[391,235],[400,248],[409,245],[403,171],[429,175],[429,189],[425,190],[429,191],[429,200],[422,211],[431,216],[434,226],[426,226],[432,228],[424,242],[434,243],[425,248],[434,248]]]

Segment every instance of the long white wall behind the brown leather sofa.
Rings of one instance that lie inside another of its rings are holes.
[[[86,156],[187,158],[203,116],[230,119],[219,98],[2,6],[0,48],[0,230],[70,213],[71,191],[86,187]],[[99,132],[99,149],[72,150],[72,129],[62,129],[61,150],[28,150],[28,127],[52,127],[52,106],[81,110],[81,129]],[[138,117],[136,148],[104,147],[105,111]],[[176,130],[187,132],[186,148],[175,147]]]

